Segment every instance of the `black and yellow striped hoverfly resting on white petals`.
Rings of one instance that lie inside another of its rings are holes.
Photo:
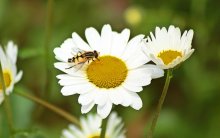
[[[96,50],[94,51],[78,51],[77,54],[75,56],[73,56],[72,58],[68,58],[68,63],[75,63],[74,66],[79,65],[79,64],[84,64],[86,62],[89,63],[89,61],[95,61],[95,59],[98,59],[99,56],[99,52],[97,52]],[[74,66],[71,66],[67,69],[70,69]]]

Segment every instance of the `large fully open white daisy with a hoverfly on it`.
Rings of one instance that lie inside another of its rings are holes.
[[[141,50],[144,35],[129,41],[129,29],[117,33],[110,25],[104,25],[101,35],[90,27],[85,36],[88,43],[74,32],[72,38],[54,49],[56,59],[61,61],[55,63],[55,67],[66,73],[57,76],[63,86],[61,93],[64,96],[79,94],[81,112],[87,113],[97,105],[97,113],[102,118],[108,116],[113,104],[139,110],[142,101],[137,92],[164,74],[155,65],[145,65],[149,59]],[[77,61],[88,51],[97,51],[98,58],[88,60],[89,63],[86,61],[79,68]],[[68,59],[72,57],[76,60],[69,63]]]

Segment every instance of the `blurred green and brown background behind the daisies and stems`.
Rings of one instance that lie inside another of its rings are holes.
[[[0,0],[0,43],[13,40],[19,46],[18,68],[24,71],[15,90],[41,97],[79,117],[78,96],[61,95],[55,77],[60,72],[53,67],[53,49],[72,32],[84,37],[87,27],[100,31],[104,24],[111,24],[116,31],[129,28],[131,36],[149,35],[156,26],[170,24],[182,31],[191,28],[196,50],[174,72],[155,138],[220,137],[219,0],[51,0],[51,7],[49,1]],[[139,93],[144,103],[140,111],[115,108],[123,117],[128,138],[146,135],[164,79],[153,80]],[[69,124],[23,97],[11,94],[10,99],[16,128],[30,132],[18,138],[58,138]],[[8,131],[1,106],[0,138],[9,137]]]

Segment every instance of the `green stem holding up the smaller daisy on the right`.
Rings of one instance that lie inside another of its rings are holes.
[[[168,90],[171,78],[172,78],[172,69],[168,69],[167,70],[166,81],[165,81],[165,84],[164,84],[164,87],[163,87],[163,91],[162,91],[161,97],[159,99],[159,103],[157,105],[157,109],[156,109],[156,112],[154,114],[154,118],[153,118],[151,128],[150,128],[150,131],[148,133],[147,138],[153,138],[153,133],[154,133],[154,130],[155,130],[155,127],[156,127],[156,124],[157,124],[158,117],[160,115],[161,108],[162,108],[163,103],[164,103],[164,99],[167,95],[167,90]]]

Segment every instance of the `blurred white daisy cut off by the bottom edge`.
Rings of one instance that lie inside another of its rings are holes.
[[[80,119],[81,128],[69,125],[64,129],[61,138],[99,138],[101,133],[102,118],[99,115],[89,114],[87,118]],[[106,138],[125,138],[122,119],[115,112],[111,113],[106,127]]]

